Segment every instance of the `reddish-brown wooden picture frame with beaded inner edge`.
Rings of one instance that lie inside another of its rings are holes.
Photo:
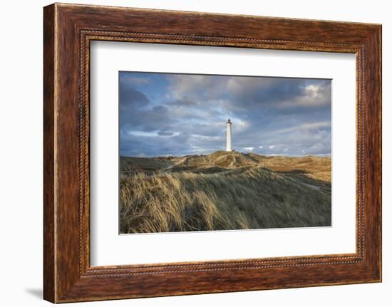
[[[52,4],[43,10],[43,297],[53,303],[381,281],[381,25]],[[90,265],[93,40],[356,54],[356,253]]]

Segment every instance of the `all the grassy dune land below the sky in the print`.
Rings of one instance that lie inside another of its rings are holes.
[[[120,232],[331,225],[331,159],[121,157]]]

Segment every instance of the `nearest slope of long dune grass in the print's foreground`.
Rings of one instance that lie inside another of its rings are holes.
[[[299,174],[246,166],[120,178],[123,234],[330,225],[330,183]]]

